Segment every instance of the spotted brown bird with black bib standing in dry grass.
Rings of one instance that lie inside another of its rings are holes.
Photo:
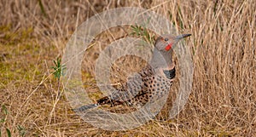
[[[176,76],[175,64],[172,61],[172,48],[184,37],[191,34],[173,36],[165,34],[157,37],[154,43],[153,55],[147,66],[137,75],[127,78],[127,82],[121,88],[117,88],[112,94],[96,100],[96,103],[80,106],[73,109],[76,112],[87,111],[97,106],[129,105],[138,108],[148,102],[160,100],[170,92]]]

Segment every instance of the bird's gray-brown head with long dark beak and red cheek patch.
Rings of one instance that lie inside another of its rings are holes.
[[[177,37],[174,37],[171,34],[160,36],[155,41],[155,48],[161,52],[169,52],[179,40],[189,36],[191,36],[191,34],[183,34]]]

